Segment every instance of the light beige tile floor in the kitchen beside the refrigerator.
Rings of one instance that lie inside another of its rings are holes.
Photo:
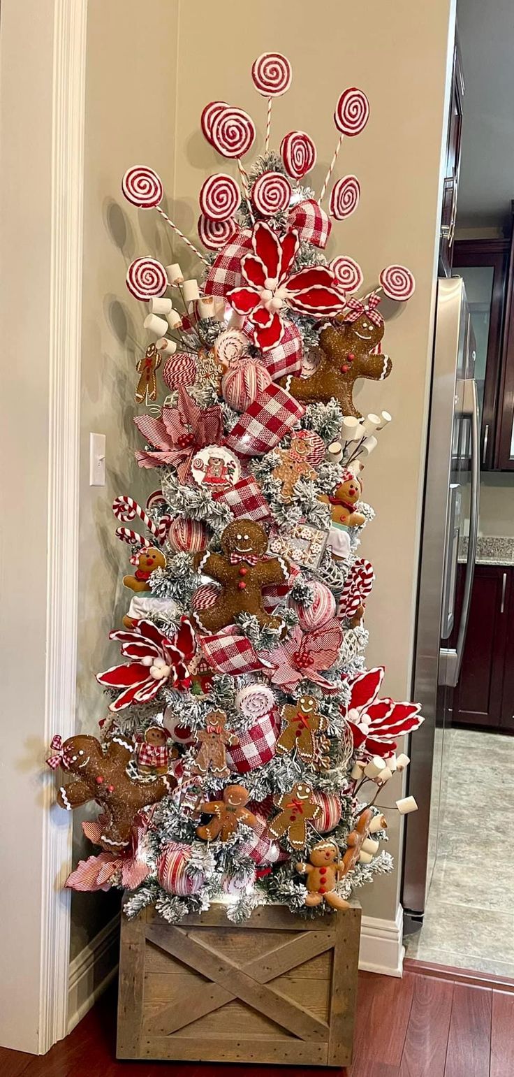
[[[449,730],[440,837],[409,957],[514,977],[514,737]]]

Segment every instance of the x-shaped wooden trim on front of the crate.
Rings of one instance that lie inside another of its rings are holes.
[[[208,946],[202,941],[202,934],[201,931],[168,924],[152,924],[146,927],[148,942],[189,965],[194,971],[211,981],[204,985],[199,983],[179,1002],[159,1010],[146,1024],[147,1034],[171,1035],[205,1013],[212,1013],[232,999],[240,998],[275,1024],[282,1025],[289,1035],[295,1033],[299,1039],[311,1043],[328,1041],[328,1024],[313,1017],[303,1006],[286,998],[270,981],[330,950],[335,943],[335,931],[306,931],[292,939],[279,942],[272,950],[249,959],[243,965],[230,961],[214,947]]]

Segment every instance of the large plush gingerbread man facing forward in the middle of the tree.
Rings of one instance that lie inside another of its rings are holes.
[[[268,537],[253,520],[232,520],[222,535],[222,554],[196,554],[195,568],[222,584],[213,605],[197,610],[195,617],[208,632],[219,632],[233,625],[240,613],[251,613],[259,625],[281,628],[280,617],[268,614],[262,605],[262,588],[282,584],[289,575],[282,557],[263,560]]]

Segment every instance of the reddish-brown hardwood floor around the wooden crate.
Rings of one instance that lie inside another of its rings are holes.
[[[316,1077],[315,1067],[116,1062],[116,984],[47,1054],[0,1047],[0,1077]],[[331,1069],[345,1077],[342,1069]],[[416,969],[359,974],[355,1061],[347,1077],[512,1077],[514,993]]]

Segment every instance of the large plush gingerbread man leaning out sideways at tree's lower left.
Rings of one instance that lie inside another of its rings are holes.
[[[156,778],[140,782],[129,778],[127,764],[133,746],[122,737],[113,737],[105,752],[96,737],[70,737],[63,743],[54,738],[57,754],[47,759],[53,769],[60,766],[76,774],[73,782],[61,785],[57,803],[67,811],[96,800],[102,809],[103,830],[99,840],[102,849],[120,850],[129,844],[134,815],[155,805],[176,785],[174,778]]]

